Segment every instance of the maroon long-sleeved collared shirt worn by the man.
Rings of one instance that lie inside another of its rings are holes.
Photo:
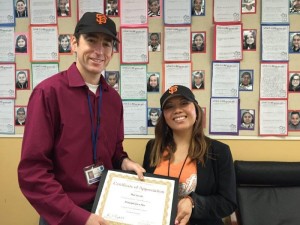
[[[123,105],[101,76],[102,104],[97,161],[120,169],[123,150]],[[76,64],[42,81],[28,107],[18,167],[21,191],[50,224],[85,224],[90,213],[79,206],[93,202],[98,184],[87,185],[83,168],[93,164],[88,95],[97,121],[99,88],[92,93]],[[94,124],[94,128],[96,124]]]

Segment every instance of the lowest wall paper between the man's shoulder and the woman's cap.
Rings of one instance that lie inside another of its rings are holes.
[[[125,135],[147,134],[147,101],[123,101]]]

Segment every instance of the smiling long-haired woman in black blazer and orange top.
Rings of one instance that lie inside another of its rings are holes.
[[[179,179],[175,224],[221,225],[236,208],[229,146],[204,135],[202,109],[192,91],[170,87],[161,97],[155,139],[146,146],[148,173]]]

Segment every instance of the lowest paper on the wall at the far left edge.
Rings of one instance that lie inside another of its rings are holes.
[[[0,134],[14,134],[14,105],[11,99],[0,99]]]

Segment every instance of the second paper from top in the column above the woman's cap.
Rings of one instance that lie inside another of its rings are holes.
[[[191,61],[191,27],[165,27],[164,60]]]

